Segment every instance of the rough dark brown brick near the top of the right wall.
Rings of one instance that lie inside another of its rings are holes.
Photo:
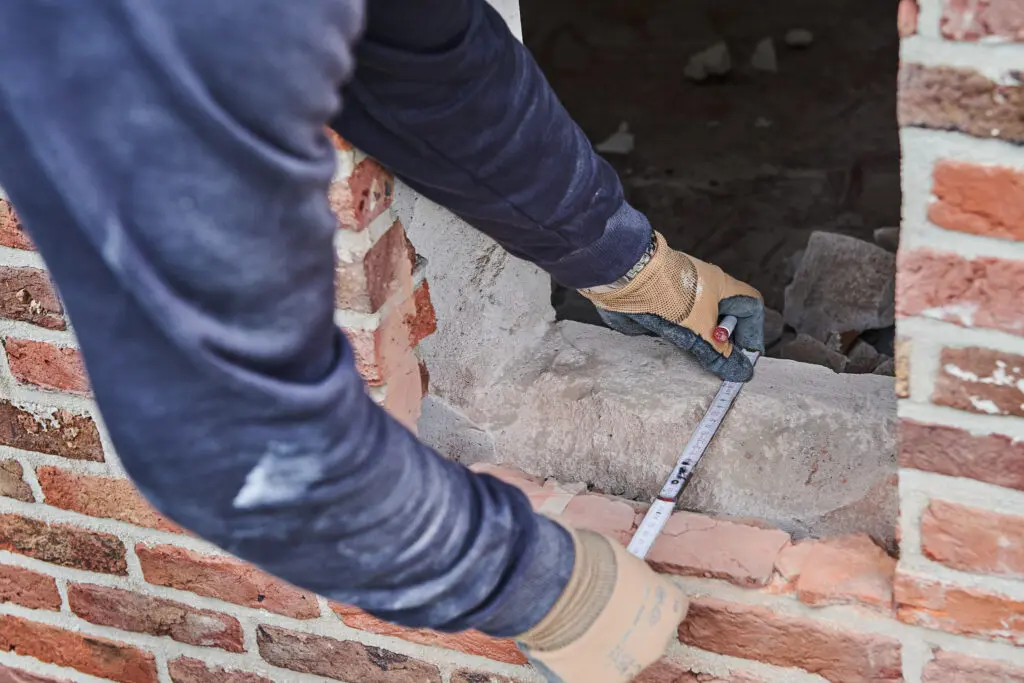
[[[901,126],[1024,142],[1024,86],[994,83],[973,69],[903,62],[897,102]]]

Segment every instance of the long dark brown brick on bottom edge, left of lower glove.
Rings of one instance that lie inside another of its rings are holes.
[[[403,654],[350,640],[271,626],[256,630],[260,655],[275,667],[346,683],[440,683],[437,668]]]

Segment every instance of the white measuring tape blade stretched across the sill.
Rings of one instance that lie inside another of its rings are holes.
[[[756,364],[760,354],[754,351],[743,351],[743,355],[750,358],[752,364]],[[633,540],[627,548],[633,555],[643,559],[650,552],[655,539],[665,528],[669,517],[676,509],[676,500],[679,498],[679,494],[693,476],[693,470],[700,462],[700,458],[703,457],[712,439],[715,438],[726,413],[729,412],[732,401],[735,400],[742,387],[742,382],[722,382],[718,393],[715,394],[711,405],[708,407],[708,411],[700,418],[696,429],[690,434],[690,440],[686,442],[683,455],[676,461],[672,476],[662,486],[660,493],[647,509],[647,514],[644,515],[643,521],[640,522],[636,533],[633,535]]]

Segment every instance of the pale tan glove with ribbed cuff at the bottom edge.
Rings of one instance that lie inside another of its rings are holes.
[[[665,654],[688,603],[614,541],[569,532],[575,563],[565,591],[516,640],[549,683],[627,683]]]

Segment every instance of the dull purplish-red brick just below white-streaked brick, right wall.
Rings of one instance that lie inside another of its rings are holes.
[[[1001,434],[900,420],[899,459],[902,467],[1024,490],[1024,443]]]

